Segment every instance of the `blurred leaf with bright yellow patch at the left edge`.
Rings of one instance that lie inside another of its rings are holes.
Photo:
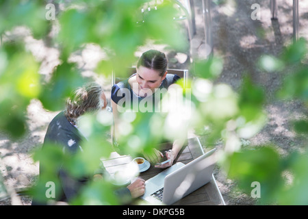
[[[0,60],[0,128],[16,138],[25,133],[29,101],[40,94],[39,64],[21,43],[5,43]]]

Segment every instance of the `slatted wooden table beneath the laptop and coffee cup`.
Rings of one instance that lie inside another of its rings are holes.
[[[160,145],[160,151],[168,151],[171,149],[171,143],[164,143]],[[180,151],[177,162],[182,162],[183,164],[188,164],[197,157],[203,155],[203,148],[200,144],[198,138],[188,139],[185,146],[183,146],[182,151]],[[131,162],[131,157],[129,155],[120,156],[118,153],[112,153],[110,159],[103,160],[103,164],[110,174],[113,174],[117,170],[125,168]],[[163,171],[164,169],[155,168],[153,165],[144,172],[140,173],[142,179],[150,179],[157,175],[157,173]],[[199,188],[198,190],[192,192],[188,196],[185,196],[180,201],[177,201],[173,205],[225,205],[222,195],[218,189],[216,179],[214,175],[206,185]]]

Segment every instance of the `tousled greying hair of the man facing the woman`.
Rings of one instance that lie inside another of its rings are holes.
[[[101,99],[103,89],[98,83],[86,83],[84,86],[73,91],[66,100],[64,112],[70,123],[76,125],[76,119],[86,112],[95,112],[104,106]]]

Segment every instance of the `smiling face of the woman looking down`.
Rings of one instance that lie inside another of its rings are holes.
[[[146,90],[150,89],[152,93],[155,92],[155,88],[159,88],[166,75],[167,72],[163,76],[159,76],[157,70],[139,66],[136,73],[139,90],[146,92]]]

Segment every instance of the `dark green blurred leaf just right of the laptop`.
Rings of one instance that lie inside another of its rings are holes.
[[[248,194],[251,183],[261,185],[261,201],[275,201],[281,179],[281,161],[274,149],[266,146],[235,152],[229,157],[229,177],[238,181],[239,187]]]

